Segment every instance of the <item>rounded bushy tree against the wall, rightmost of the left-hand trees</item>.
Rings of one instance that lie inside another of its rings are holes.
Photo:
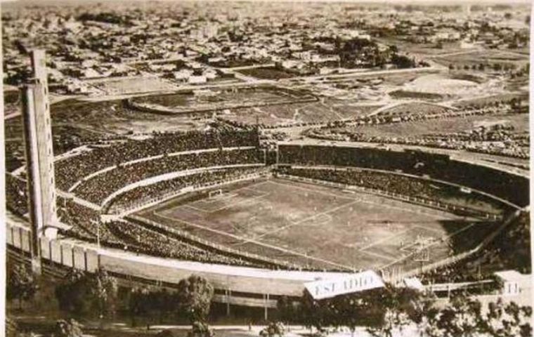
[[[203,277],[191,275],[178,283],[178,298],[191,324],[206,322],[214,289]]]

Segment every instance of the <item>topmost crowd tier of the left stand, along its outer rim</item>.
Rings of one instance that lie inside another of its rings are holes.
[[[68,190],[89,174],[126,161],[154,157],[188,150],[221,147],[256,146],[256,131],[188,131],[185,133],[154,133],[143,140],[122,140],[112,145],[94,147],[74,157],[56,162],[56,181],[62,190]]]

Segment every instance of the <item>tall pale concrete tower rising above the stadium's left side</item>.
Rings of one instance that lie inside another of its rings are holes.
[[[56,182],[45,53],[42,50],[34,50],[31,57],[33,77],[22,87],[22,124],[32,224],[32,256],[34,266],[38,267],[39,237],[56,234],[55,230],[46,230],[47,226],[55,226],[57,223]]]

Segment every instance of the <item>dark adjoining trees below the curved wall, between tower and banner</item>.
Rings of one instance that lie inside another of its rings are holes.
[[[94,274],[72,270],[65,281],[56,286],[56,298],[60,310],[73,317],[115,317],[122,304],[131,317],[132,326],[137,317],[143,317],[150,329],[150,322],[176,315],[187,317],[195,336],[211,336],[207,317],[211,308],[214,289],[206,279],[191,275],[178,283],[176,291],[164,288],[138,286],[129,289],[119,299],[117,279],[100,270]]]

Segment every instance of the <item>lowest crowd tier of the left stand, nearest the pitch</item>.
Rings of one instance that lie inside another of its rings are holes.
[[[187,186],[200,187],[214,183],[235,180],[240,176],[259,172],[258,168],[230,168],[216,171],[204,171],[188,176],[163,180],[152,185],[144,185],[119,194],[110,202],[110,209],[124,210],[138,204],[145,204],[152,199],[164,197],[169,193],[179,191]]]

